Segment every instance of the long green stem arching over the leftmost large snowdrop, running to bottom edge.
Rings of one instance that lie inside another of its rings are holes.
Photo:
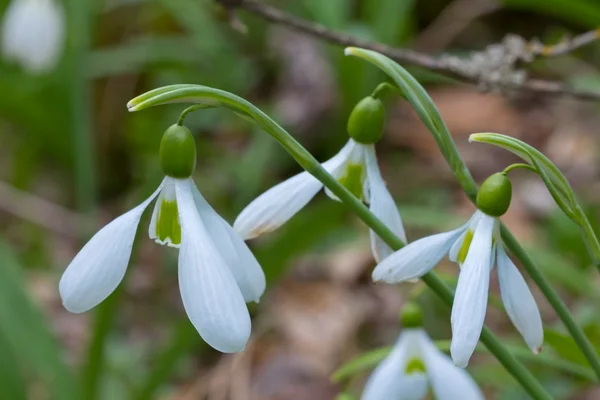
[[[145,93],[128,103],[130,111],[138,111],[158,104],[189,99],[190,102],[219,105],[229,108],[242,116],[249,116],[275,140],[304,168],[308,173],[317,178],[326,188],[335,194],[344,204],[369,226],[385,243],[392,249],[398,250],[404,246],[402,240],[397,237],[382,221],[380,221],[369,209],[358,200],[350,191],[342,186],[331,176],[313,156],[300,143],[298,143],[285,129],[269,118],[264,112],[248,101],[231,93],[197,85],[175,85],[172,88],[165,87]],[[450,138],[454,146],[454,142]],[[462,161],[462,160],[461,160]],[[456,160],[455,160],[456,162]],[[462,173],[470,172],[464,164],[454,164],[461,168]],[[473,182],[473,192],[476,195],[476,185]],[[449,307],[452,306],[454,294],[452,290],[434,273],[429,272],[422,277],[426,285],[436,293]],[[536,400],[551,400],[552,396],[535,379],[535,377],[519,363],[502,343],[487,328],[483,327],[481,342],[490,350],[504,368],[523,386],[523,388]]]

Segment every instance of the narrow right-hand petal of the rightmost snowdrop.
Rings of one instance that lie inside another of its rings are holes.
[[[539,353],[544,342],[544,328],[540,310],[523,276],[506,254],[497,246],[498,279],[502,302],[510,320],[534,353]]]

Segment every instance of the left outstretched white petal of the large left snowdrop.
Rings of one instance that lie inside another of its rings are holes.
[[[161,188],[100,229],[71,261],[59,283],[67,310],[82,313],[95,307],[123,280],[142,213]]]

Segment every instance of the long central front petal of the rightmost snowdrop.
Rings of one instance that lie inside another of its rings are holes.
[[[450,353],[454,363],[463,368],[475,350],[485,319],[495,222],[496,219],[489,216],[479,220],[456,286]]]

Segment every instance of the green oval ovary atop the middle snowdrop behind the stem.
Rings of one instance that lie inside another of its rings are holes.
[[[385,108],[383,102],[368,96],[358,102],[348,118],[348,135],[359,143],[377,143],[383,135]]]

